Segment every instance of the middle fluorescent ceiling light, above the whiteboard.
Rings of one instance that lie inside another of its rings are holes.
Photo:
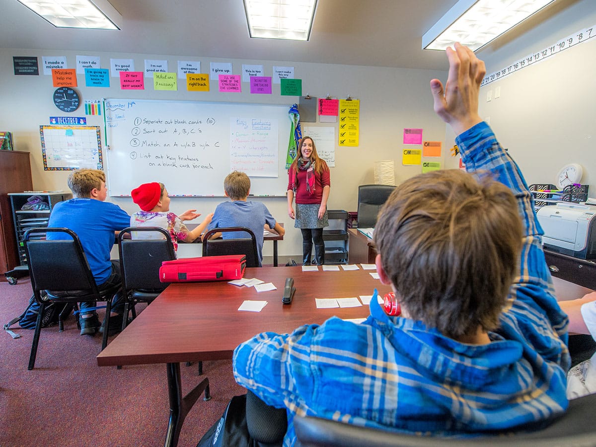
[[[252,38],[308,41],[316,0],[244,0]]]

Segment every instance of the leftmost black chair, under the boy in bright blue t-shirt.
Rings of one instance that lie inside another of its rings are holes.
[[[66,240],[46,240],[43,237],[51,232],[61,232],[70,236]],[[68,228],[32,228],[23,236],[27,266],[33,288],[33,296],[39,303],[39,314],[33,334],[33,344],[29,357],[29,370],[35,365],[41,319],[49,302],[76,303],[106,302],[106,327],[109,323],[111,299],[119,286],[100,293],[83,252],[79,237]],[[42,296],[42,290],[47,294]],[[109,297],[109,298],[107,298]],[[78,324],[78,320],[77,320]],[[101,349],[107,345],[108,331],[104,331]]]

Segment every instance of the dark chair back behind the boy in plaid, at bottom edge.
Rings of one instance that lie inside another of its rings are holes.
[[[555,447],[595,445],[596,394],[569,401],[565,414],[535,432],[479,434],[479,437],[430,437],[359,427],[317,417],[294,418],[302,447]]]

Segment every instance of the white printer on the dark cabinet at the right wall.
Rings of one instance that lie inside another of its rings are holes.
[[[536,215],[544,230],[545,248],[580,259],[596,259],[596,206],[558,202],[541,207]]]

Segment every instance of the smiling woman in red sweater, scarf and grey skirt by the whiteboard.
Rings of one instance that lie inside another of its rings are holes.
[[[288,215],[294,227],[302,231],[302,265],[311,265],[312,246],[315,264],[325,263],[323,228],[329,226],[327,199],[331,181],[329,167],[316,153],[315,142],[304,136],[298,145],[296,159],[288,171]],[[296,197],[296,213],[292,201]]]

